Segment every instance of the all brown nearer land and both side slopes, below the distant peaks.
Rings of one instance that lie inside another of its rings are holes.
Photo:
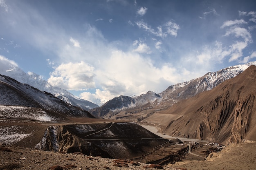
[[[157,113],[147,110],[136,122],[127,117],[133,113],[97,119],[5,77],[0,170],[256,169],[255,73],[250,66],[211,91]]]

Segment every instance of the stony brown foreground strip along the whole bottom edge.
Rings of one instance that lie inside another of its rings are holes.
[[[79,153],[0,147],[0,170],[255,170],[255,151],[256,143],[231,144],[221,152],[210,154],[205,161],[182,161],[159,166]]]

